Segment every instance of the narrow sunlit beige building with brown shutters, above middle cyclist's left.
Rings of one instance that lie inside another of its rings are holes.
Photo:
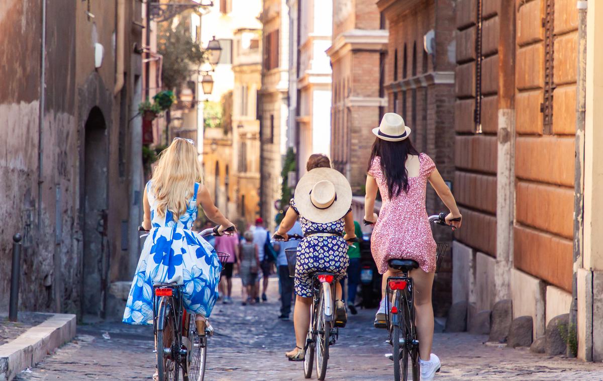
[[[289,17],[285,0],[264,0],[262,23],[262,89],[257,118],[260,121],[260,216],[273,230],[280,200],[283,156],[286,153],[289,115]]]

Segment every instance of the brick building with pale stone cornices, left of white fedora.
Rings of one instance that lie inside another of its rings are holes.
[[[385,19],[376,4],[333,2],[333,39],[327,51],[333,67],[331,159],[355,194],[364,189],[374,141],[371,128],[379,125],[387,107],[387,43]]]

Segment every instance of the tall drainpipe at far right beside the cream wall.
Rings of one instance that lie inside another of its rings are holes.
[[[584,253],[584,124],[586,114],[586,11],[587,1],[578,1],[578,73],[576,77],[576,148],[573,198],[573,277],[570,327],[578,329],[578,269]],[[568,356],[574,354],[567,348]]]

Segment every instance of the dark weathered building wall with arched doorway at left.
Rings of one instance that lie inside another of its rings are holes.
[[[21,233],[21,309],[107,315],[134,272],[141,21],[133,0],[0,4],[0,258]]]

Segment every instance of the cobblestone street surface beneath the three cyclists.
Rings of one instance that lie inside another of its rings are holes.
[[[279,321],[277,280],[271,279],[268,303],[241,306],[239,279],[235,303],[217,304],[212,324],[216,335],[207,354],[206,380],[303,380],[301,363],[285,360],[293,345],[292,321]],[[373,311],[350,316],[332,347],[328,380],[391,380],[384,331],[373,329]],[[121,323],[78,326],[75,339],[16,380],[148,380],[154,369],[150,327]],[[109,339],[103,338],[109,333]],[[442,370],[435,380],[601,380],[603,365],[575,359],[485,345],[487,336],[436,333],[434,353]]]

